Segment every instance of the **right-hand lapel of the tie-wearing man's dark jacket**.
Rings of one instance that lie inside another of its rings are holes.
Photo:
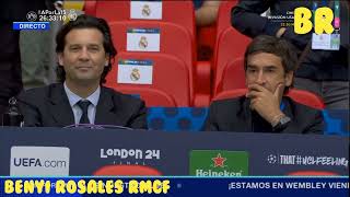
[[[122,114],[117,111],[114,94],[105,88],[101,88],[101,95],[96,107],[95,125],[124,126]]]

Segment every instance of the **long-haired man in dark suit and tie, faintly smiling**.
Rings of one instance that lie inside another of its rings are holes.
[[[56,37],[61,83],[32,89],[19,96],[24,126],[73,124],[147,128],[144,102],[104,88],[117,51],[103,19],[80,15]]]

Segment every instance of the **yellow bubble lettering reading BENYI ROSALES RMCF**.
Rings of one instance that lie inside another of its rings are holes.
[[[5,179],[3,185],[4,194],[167,194],[170,188],[168,179]]]

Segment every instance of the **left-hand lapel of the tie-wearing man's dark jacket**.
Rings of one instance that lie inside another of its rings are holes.
[[[73,111],[69,104],[62,84],[57,84],[50,90],[49,112],[58,126],[69,126],[74,124]]]

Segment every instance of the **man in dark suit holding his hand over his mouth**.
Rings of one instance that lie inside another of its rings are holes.
[[[245,96],[214,101],[206,130],[322,134],[319,111],[283,96],[292,86],[298,57],[293,46],[273,36],[258,36],[244,57]]]

